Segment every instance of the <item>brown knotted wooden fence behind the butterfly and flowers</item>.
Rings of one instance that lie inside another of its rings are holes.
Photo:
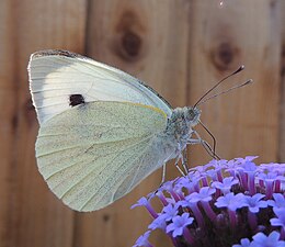
[[[76,213],[56,199],[35,162],[38,124],[26,71],[30,54],[46,48],[128,71],[173,108],[194,104],[243,64],[246,70],[224,89],[249,78],[254,83],[202,105],[202,121],[220,157],[258,155],[258,162],[285,162],[284,0],[224,0],[223,7],[218,0],[1,0],[1,247],[132,246],[150,217],[145,209],[129,207],[161,180],[159,170],[93,213]],[[191,166],[210,160],[201,146],[189,153]],[[176,176],[169,164],[167,178]],[[151,240],[171,246],[159,231]]]

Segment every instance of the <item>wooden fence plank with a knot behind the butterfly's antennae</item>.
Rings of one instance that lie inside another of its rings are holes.
[[[280,2],[224,3],[218,8],[218,1],[193,1],[190,99],[193,104],[215,81],[244,64],[246,70],[225,86],[248,78],[255,82],[202,105],[202,121],[216,136],[223,158],[259,155],[260,162],[273,161],[278,146]],[[207,159],[200,151],[193,157]]]

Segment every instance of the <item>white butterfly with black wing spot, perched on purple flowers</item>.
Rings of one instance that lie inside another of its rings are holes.
[[[194,139],[197,108],[176,108],[136,78],[66,52],[31,55],[30,89],[41,125],[39,172],[77,211],[102,209],[133,190]]]

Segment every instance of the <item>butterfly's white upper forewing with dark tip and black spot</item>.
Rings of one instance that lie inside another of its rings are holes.
[[[81,94],[84,102],[136,102],[171,114],[170,104],[138,79],[70,52],[48,49],[32,54],[29,77],[39,123],[70,109],[71,94]]]

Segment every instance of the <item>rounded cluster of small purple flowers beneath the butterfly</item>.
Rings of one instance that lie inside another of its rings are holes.
[[[152,247],[156,229],[176,247],[285,247],[285,164],[255,158],[212,160],[140,199],[133,207],[144,205],[153,221],[134,247]]]

